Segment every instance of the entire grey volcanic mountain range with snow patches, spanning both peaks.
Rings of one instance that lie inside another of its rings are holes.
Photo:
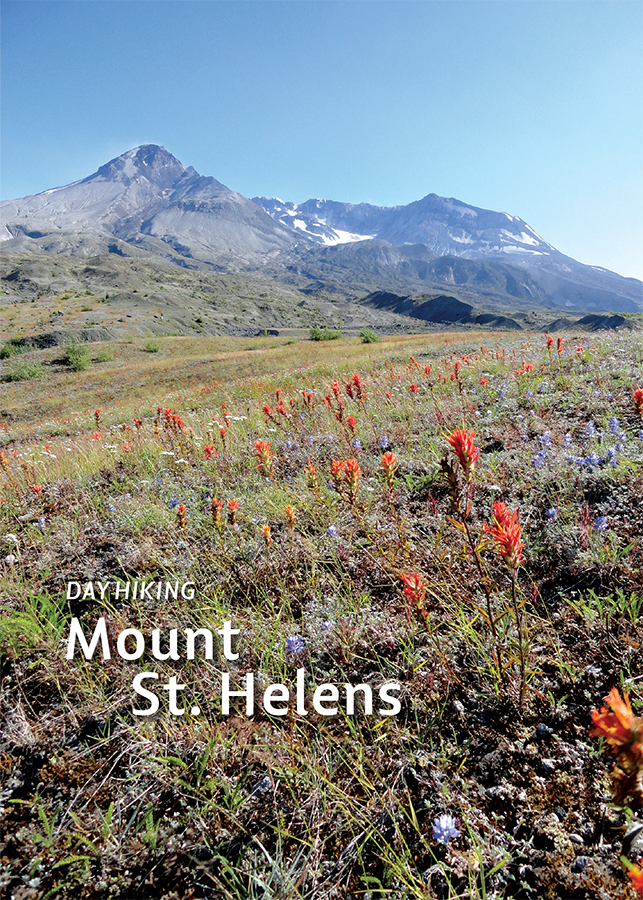
[[[565,256],[518,216],[436,194],[393,207],[252,201],[155,144],[73,184],[0,203],[0,247],[261,268],[344,291],[386,281],[405,290],[460,285],[470,296],[494,284],[499,302],[643,309],[640,281]]]

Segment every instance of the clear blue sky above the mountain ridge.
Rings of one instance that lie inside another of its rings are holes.
[[[643,277],[639,0],[3,0],[2,199],[142,143],[246,196],[525,219]]]

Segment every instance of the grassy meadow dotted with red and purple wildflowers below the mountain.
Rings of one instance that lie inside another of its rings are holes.
[[[0,896],[637,895],[636,335],[83,347],[0,363]],[[236,659],[187,658],[225,621]]]

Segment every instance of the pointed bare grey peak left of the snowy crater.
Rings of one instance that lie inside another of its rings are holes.
[[[243,263],[296,242],[255,203],[154,144],[110,160],[81,181],[0,203],[0,240],[7,250],[83,256],[139,250],[176,262]]]

